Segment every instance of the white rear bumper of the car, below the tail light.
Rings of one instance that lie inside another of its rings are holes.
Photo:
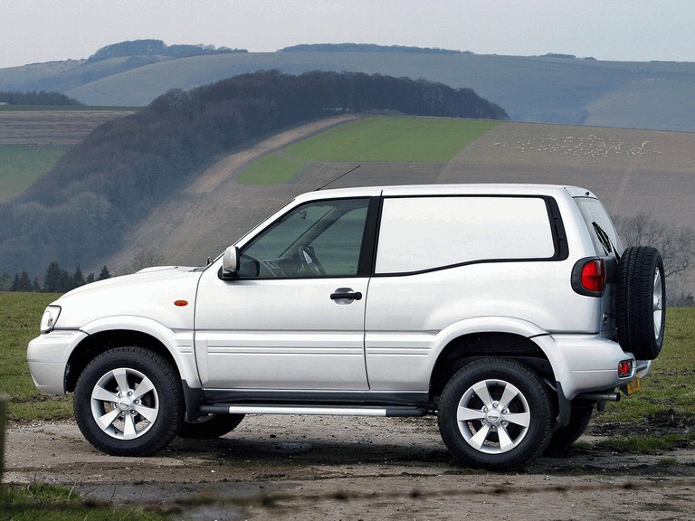
[[[625,385],[637,375],[637,364],[632,353],[625,353],[612,340],[597,335],[548,335],[533,339],[547,355],[557,382],[567,400],[579,393],[605,391]],[[633,372],[618,376],[618,365],[633,363]],[[640,365],[640,375],[649,373],[651,364]]]

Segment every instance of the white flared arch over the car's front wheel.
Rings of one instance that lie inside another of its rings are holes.
[[[173,330],[157,320],[137,316],[102,317],[80,327],[87,335],[109,331],[135,331],[157,339],[172,356],[181,379],[191,388],[200,388],[195,368],[194,333],[192,330]]]

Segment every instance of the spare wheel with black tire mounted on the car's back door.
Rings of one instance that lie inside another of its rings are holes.
[[[653,360],[662,350],[665,296],[661,253],[651,246],[627,248],[618,264],[618,340],[637,360]]]

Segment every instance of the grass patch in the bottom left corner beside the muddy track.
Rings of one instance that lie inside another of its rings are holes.
[[[0,520],[7,521],[155,521],[167,519],[165,512],[148,512],[141,507],[112,507],[83,501],[68,488],[50,485],[14,487],[0,485]]]

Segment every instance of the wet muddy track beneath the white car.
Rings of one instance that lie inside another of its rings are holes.
[[[457,466],[434,418],[248,416],[219,440],[109,457],[71,422],[8,427],[5,483],[174,510],[174,519],[695,518],[695,448],[617,454],[583,438],[562,457],[492,473]]]

